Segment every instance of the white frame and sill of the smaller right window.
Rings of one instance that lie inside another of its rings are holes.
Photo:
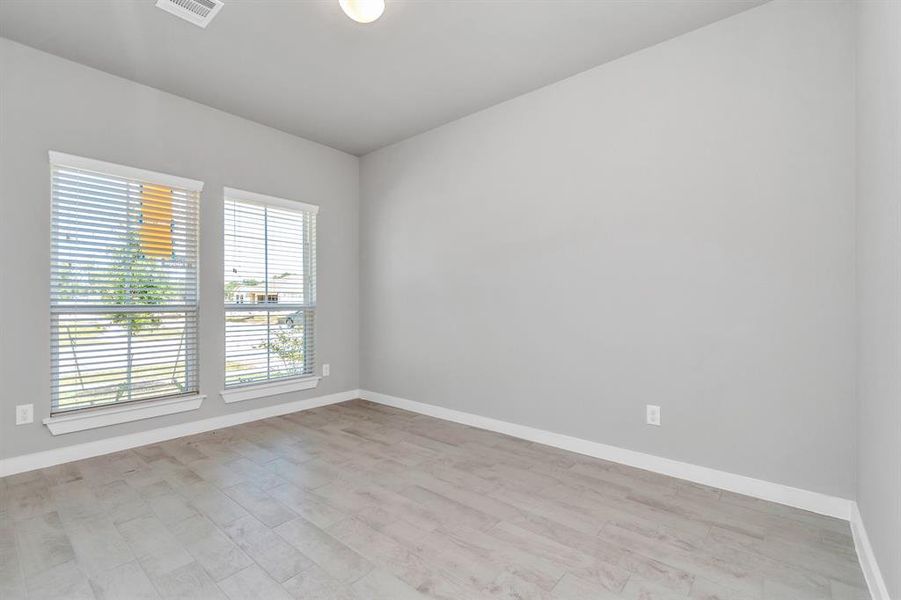
[[[292,302],[283,302],[280,299],[274,302],[269,301],[269,297],[278,296],[278,292],[271,292],[268,290],[268,273],[264,276],[264,280],[267,282],[267,287],[261,293],[262,295],[267,295],[266,302],[258,302],[256,301],[256,297],[260,294],[245,293],[244,302],[224,302],[223,308],[225,313],[225,319],[227,323],[229,313],[235,312],[267,312],[269,311],[286,311],[290,310],[293,312],[297,311],[309,311],[313,316],[313,322],[316,321],[316,315],[318,312],[318,303],[317,303],[317,286],[316,280],[318,276],[318,214],[319,214],[319,206],[315,204],[309,204],[306,202],[300,202],[297,200],[289,200],[286,198],[280,198],[277,196],[269,196],[266,194],[260,194],[257,192],[250,192],[247,190],[241,190],[232,187],[224,187],[222,193],[223,199],[223,214],[228,210],[228,202],[234,201],[243,204],[251,204],[256,206],[261,206],[263,208],[273,207],[282,210],[288,210],[292,212],[298,213],[310,213],[313,218],[313,224],[311,231],[303,231],[302,235],[310,236],[310,240],[304,240],[304,247],[309,249],[307,256],[305,256],[304,261],[304,298],[307,299],[305,304],[298,304]],[[223,220],[223,260],[225,260],[225,221]],[[267,224],[268,228],[268,224]],[[265,236],[268,236],[268,229],[264,232]],[[268,263],[268,255],[264,258],[264,263]],[[223,262],[223,276],[225,275],[225,267],[227,265]],[[223,277],[223,291],[225,285],[225,279]],[[254,296],[254,301],[250,301],[248,296]],[[224,297],[224,294],[223,294]],[[267,316],[267,318],[271,318]],[[276,394],[282,394],[286,392],[293,392],[298,390],[311,389],[319,385],[319,380],[321,379],[316,374],[317,368],[317,360],[316,360],[316,334],[317,327],[313,327],[313,334],[310,336],[306,335],[304,337],[304,356],[305,362],[308,362],[308,367],[304,369],[303,374],[286,376],[286,377],[277,377],[270,378],[267,376],[266,379],[260,381],[250,381],[250,382],[240,382],[240,383],[228,383],[227,371],[224,373],[223,377],[223,390],[220,392],[220,396],[222,396],[225,402],[239,402],[242,400],[249,400],[252,398],[259,398],[263,396],[271,396]],[[228,339],[227,335],[224,339],[224,358],[225,364],[228,364]],[[309,357],[309,358],[307,358]],[[271,370],[271,369],[268,369]],[[267,370],[267,371],[268,371]]]

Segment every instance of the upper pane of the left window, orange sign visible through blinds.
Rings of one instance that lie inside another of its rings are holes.
[[[54,302],[195,303],[196,209],[188,192],[57,169]]]

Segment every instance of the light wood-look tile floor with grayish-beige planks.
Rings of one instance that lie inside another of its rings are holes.
[[[0,484],[3,599],[868,598],[845,522],[362,400]]]

